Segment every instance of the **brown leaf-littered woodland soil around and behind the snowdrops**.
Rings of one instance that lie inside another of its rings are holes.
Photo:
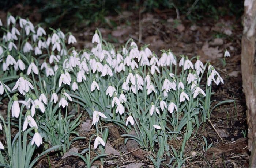
[[[5,12],[0,12],[0,14],[3,16]],[[123,11],[118,16],[109,16],[106,19],[112,20],[117,26],[113,27],[110,23],[105,26],[95,23],[90,27],[71,28],[70,31],[78,39],[75,47],[78,49],[91,48],[91,38],[95,28],[98,27],[103,38],[112,42],[116,47],[125,43],[129,38],[133,38],[139,44],[138,40],[139,36],[141,36],[139,48],[143,44],[150,44],[151,51],[158,55],[160,49],[168,50],[169,48],[176,56],[183,54],[191,58],[192,56],[200,55],[200,60],[203,60],[204,63],[209,61],[218,69],[225,83],[224,85],[214,86],[213,91],[215,94],[212,96],[212,100],[215,101],[213,105],[227,99],[235,100],[235,103],[218,106],[211,114],[210,121],[223,138],[223,141],[217,136],[210,122],[202,124],[196,137],[190,138],[187,142],[188,145],[186,145],[184,153],[188,157],[186,165],[193,168],[248,167],[247,139],[240,139],[244,137],[242,130],[245,131],[247,128],[246,104],[245,96],[242,92],[240,68],[241,18],[226,16],[218,20],[204,18],[197,22],[191,22],[181,16],[180,22],[177,22],[176,13],[171,10],[142,13],[141,17],[134,12]],[[231,57],[226,58],[226,66],[223,66],[220,59],[223,59],[225,49],[229,50]],[[84,115],[78,130],[80,136],[86,136],[88,139],[76,141],[72,144],[72,150],[79,152],[87,148],[89,137],[95,133],[95,130],[90,129],[91,121],[89,116],[82,110],[80,113],[84,113]],[[124,138],[120,137],[120,135],[125,132],[121,128],[111,124],[105,126],[109,127],[107,146],[111,155],[104,159],[104,167],[132,168],[138,167],[138,165],[141,165],[141,167],[153,167],[146,157],[147,153],[144,153],[142,149],[133,153],[128,152],[131,151],[129,149],[131,146],[129,144],[124,145]],[[204,144],[202,135],[206,137],[208,144],[212,143],[213,148],[207,153],[203,151],[201,145]],[[237,143],[234,142],[236,140],[238,140]],[[182,140],[177,138],[175,141],[170,141],[169,145],[173,145],[178,150],[181,143]],[[215,153],[214,157],[212,152]],[[116,153],[121,153],[121,156],[115,155]],[[57,157],[56,153],[50,153],[48,156],[42,157],[37,167],[50,167],[49,164],[52,168],[85,167],[84,162],[77,157]],[[167,167],[165,164],[168,164],[168,162],[164,162],[162,167]],[[98,167],[101,163],[96,161],[94,165]]]

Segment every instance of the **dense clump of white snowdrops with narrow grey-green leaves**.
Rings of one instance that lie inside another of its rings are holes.
[[[6,136],[6,142],[0,142],[1,165],[33,167],[45,153],[56,150],[63,155],[72,142],[85,138],[75,131],[81,114],[74,119],[76,114],[68,113],[76,112],[77,105],[96,129],[88,148],[72,153],[88,167],[99,158],[103,163],[106,156],[106,122],[123,128],[125,142],[138,142],[155,167],[167,158],[174,167],[185,164],[187,140],[210,118],[212,82],[223,83],[212,65],[203,65],[198,56],[176,57],[170,50],[156,55],[132,39],[115,48],[98,30],[92,39],[95,46],[78,51],[66,46],[76,43],[71,33],[50,28],[47,35],[40,25],[10,14],[7,25],[0,25],[0,101],[8,102],[7,118],[0,114]],[[203,75],[207,83],[201,83]],[[15,136],[11,128],[17,129]],[[71,135],[76,137],[71,140]],[[168,144],[177,137],[183,140],[178,151]],[[35,148],[42,151],[37,157]],[[98,153],[93,160],[91,150]]]

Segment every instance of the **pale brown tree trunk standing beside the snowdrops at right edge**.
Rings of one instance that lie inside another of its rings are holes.
[[[241,71],[247,105],[248,149],[250,168],[256,168],[256,78],[254,68],[256,0],[244,1]]]

